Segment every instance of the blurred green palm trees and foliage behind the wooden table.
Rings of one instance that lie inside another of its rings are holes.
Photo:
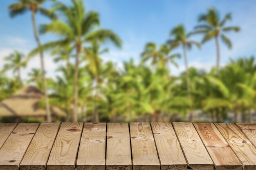
[[[28,84],[34,84],[45,93],[40,107],[58,106],[72,121],[253,121],[256,111],[256,61],[254,57],[230,59],[220,67],[219,38],[229,47],[231,40],[224,34],[240,31],[239,27],[225,26],[231,13],[220,20],[216,9],[200,15],[195,30],[186,31],[179,24],[166,36],[163,44],[148,42],[141,49],[141,61],[133,59],[122,67],[103,61],[110,43],[121,47],[119,36],[100,27],[99,13],[86,11],[83,0],[72,0],[67,6],[61,1],[52,2],[52,9],[44,9],[44,0],[19,0],[9,6],[11,16],[31,11],[34,36],[38,46],[24,55],[14,51],[5,57],[6,65],[0,71],[0,101],[10,97]],[[58,35],[58,39],[40,43],[35,13],[52,18],[39,26],[40,36]],[[61,16],[61,17],[58,17]],[[204,34],[202,42],[193,39]],[[217,64],[209,72],[189,67],[187,50],[201,48],[204,42],[215,39]],[[182,54],[173,50],[181,48]],[[43,53],[50,53],[58,67],[55,78],[46,77]],[[41,69],[33,68],[28,79],[20,72],[31,57],[39,54]],[[173,71],[182,57],[185,71],[178,76]],[[7,76],[12,70],[13,76]],[[49,111],[49,113],[48,113]],[[231,115],[231,116],[230,116]],[[166,117],[166,118],[163,118]]]

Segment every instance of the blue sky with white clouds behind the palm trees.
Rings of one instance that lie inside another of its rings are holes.
[[[63,0],[70,3],[69,0]],[[3,57],[13,50],[28,53],[36,46],[33,36],[31,15],[10,18],[7,6],[15,0],[2,0],[0,6],[0,68],[4,65]],[[50,7],[50,4],[45,4]],[[134,58],[139,61],[139,55],[146,42],[163,44],[169,38],[170,30],[177,24],[184,24],[191,31],[197,24],[200,13],[209,7],[215,7],[223,18],[231,12],[233,20],[227,25],[240,26],[240,33],[228,33],[233,42],[229,50],[221,43],[221,65],[224,66],[229,58],[249,57],[256,55],[256,1],[255,0],[85,0],[88,11],[96,10],[101,16],[101,27],[112,29],[123,40],[121,50],[110,46],[110,52],[104,54],[103,60],[112,60],[121,67],[121,62]],[[48,23],[49,20],[37,15],[38,24]],[[192,39],[200,41],[201,35]],[[40,35],[42,42],[56,39],[54,35]],[[177,49],[174,52],[181,52]],[[54,77],[56,68],[49,54],[45,54],[47,75]],[[193,48],[188,52],[189,65],[209,70],[216,64],[216,46],[213,40],[202,46],[201,50]],[[180,68],[173,67],[172,73],[178,75],[184,71],[183,58],[177,60]],[[22,70],[22,77],[27,78],[31,68],[40,67],[39,57],[34,57]],[[8,73],[11,76],[11,73]]]

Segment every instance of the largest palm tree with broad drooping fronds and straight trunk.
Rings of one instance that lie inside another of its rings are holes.
[[[95,11],[86,13],[82,0],[72,0],[72,6],[66,6],[61,2],[57,2],[56,9],[63,14],[65,22],[55,20],[50,24],[43,25],[40,31],[41,33],[51,32],[61,35],[62,39],[43,44],[41,48],[34,49],[29,55],[35,55],[41,49],[49,50],[72,44],[72,47],[76,52],[73,121],[77,121],[78,72],[81,52],[86,49],[84,46],[85,43],[91,42],[92,40],[97,40],[97,42],[105,42],[106,40],[110,40],[116,46],[121,47],[121,39],[111,30],[95,29],[95,27],[99,26],[100,24],[99,14]]]

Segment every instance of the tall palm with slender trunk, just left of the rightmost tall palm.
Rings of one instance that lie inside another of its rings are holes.
[[[190,93],[190,85],[189,85],[189,64],[188,64],[188,59],[186,55],[186,50],[191,49],[192,45],[196,45],[199,49],[201,48],[200,43],[194,41],[194,40],[189,40],[190,36],[192,35],[191,33],[186,33],[186,30],[183,25],[177,25],[175,28],[171,30],[171,36],[173,38],[171,40],[168,40],[168,44],[170,44],[173,48],[175,47],[182,47],[183,50],[183,57],[185,61],[185,68],[186,68],[186,88],[187,91]]]

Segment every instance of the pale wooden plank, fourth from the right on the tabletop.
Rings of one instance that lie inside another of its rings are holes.
[[[193,170],[213,170],[213,161],[192,123],[173,123],[186,161]]]

